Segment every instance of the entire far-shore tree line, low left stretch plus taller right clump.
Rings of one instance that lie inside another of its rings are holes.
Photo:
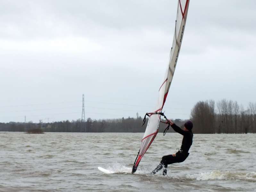
[[[43,132],[145,132],[145,125],[141,127],[143,118],[136,114],[136,118],[103,119],[87,118],[76,121],[66,120],[52,123],[0,123],[0,131],[28,132],[41,129]],[[236,101],[214,100],[197,102],[191,110],[190,120],[194,124],[194,133],[255,133],[256,132],[256,103],[249,103],[245,110]],[[187,120],[174,119],[181,128]],[[167,124],[160,123],[159,132],[164,132]],[[169,132],[173,132],[172,128]]]

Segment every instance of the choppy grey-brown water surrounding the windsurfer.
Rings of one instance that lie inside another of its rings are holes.
[[[169,165],[168,176],[149,173],[182,136],[159,133],[130,174],[142,136],[0,132],[0,191],[256,191],[255,134],[194,134],[187,160]]]

